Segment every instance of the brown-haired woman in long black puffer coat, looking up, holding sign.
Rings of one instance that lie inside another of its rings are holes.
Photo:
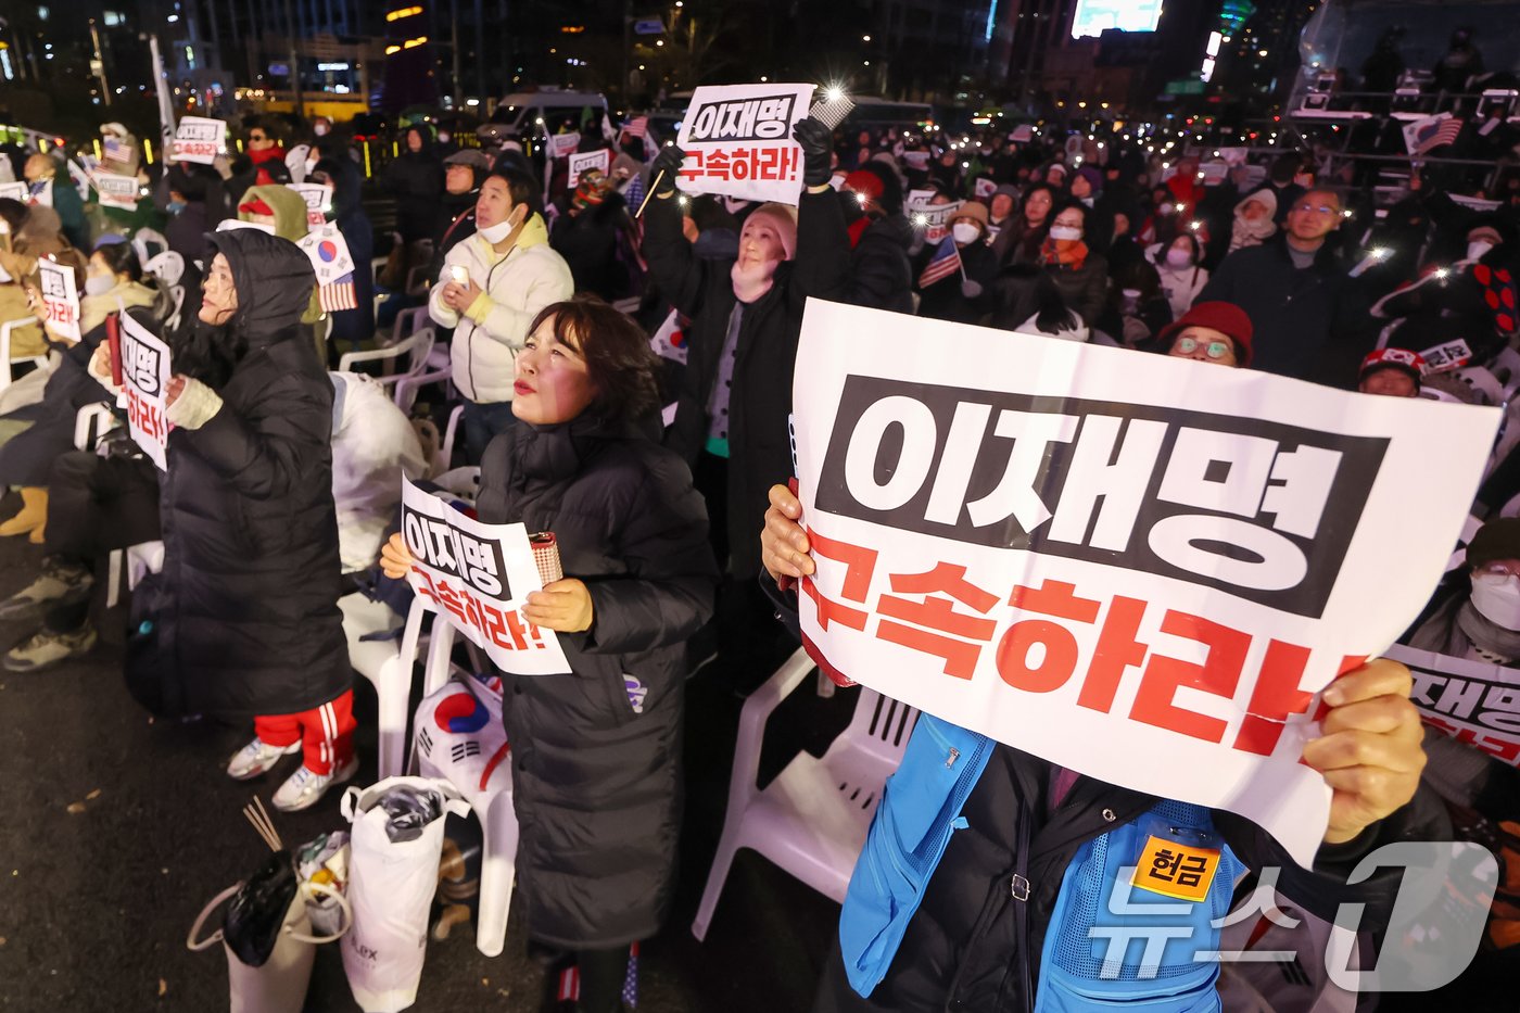
[[[572,951],[579,1010],[619,1008],[628,946],[675,887],[686,640],[713,610],[707,511],[661,449],[655,356],[625,315],[578,297],[517,353],[512,412],[480,467],[486,523],[552,531],[567,576],[523,618],[559,634],[568,675],[502,675],[529,938]],[[401,535],[382,552],[410,570]]]

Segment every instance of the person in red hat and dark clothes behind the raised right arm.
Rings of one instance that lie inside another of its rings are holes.
[[[806,131],[804,131],[806,134]],[[816,146],[815,146],[816,148]],[[821,164],[821,155],[815,151]],[[897,173],[868,161],[845,176],[838,195],[850,236],[850,269],[838,298],[853,306],[914,312],[914,227],[903,214]]]

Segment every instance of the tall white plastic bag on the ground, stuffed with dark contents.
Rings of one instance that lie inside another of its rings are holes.
[[[365,1013],[397,1013],[416,1001],[427,916],[438,888],[444,817],[412,841],[392,841],[386,834],[388,817],[377,803],[403,785],[438,791],[444,812],[470,811],[451,785],[430,777],[388,777],[363,791],[344,792],[344,818],[353,823],[348,902],[354,908],[353,928],[342,942],[344,970]]]

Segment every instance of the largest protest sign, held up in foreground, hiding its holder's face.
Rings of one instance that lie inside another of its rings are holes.
[[[1318,692],[1426,604],[1497,409],[818,300],[796,360],[815,659],[1313,859]]]

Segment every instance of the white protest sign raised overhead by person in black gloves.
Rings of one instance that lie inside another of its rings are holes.
[[[796,204],[803,149],[792,128],[807,116],[813,85],[704,85],[692,93],[676,143],[676,184],[687,193]]]

